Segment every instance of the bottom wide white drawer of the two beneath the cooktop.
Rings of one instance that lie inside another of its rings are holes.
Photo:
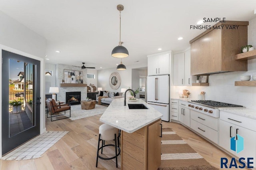
[[[190,120],[190,128],[192,128],[199,134],[202,134],[204,137],[208,138],[212,142],[218,144],[218,132],[216,130],[202,125],[201,123],[194,121],[193,119]]]

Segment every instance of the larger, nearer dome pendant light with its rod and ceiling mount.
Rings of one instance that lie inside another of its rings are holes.
[[[116,57],[116,58],[125,58],[129,56],[129,52],[126,49],[126,47],[122,46],[123,42],[121,42],[121,11],[124,10],[124,6],[122,5],[118,5],[117,6],[117,10],[120,12],[120,26],[119,26],[119,45],[114,47],[114,49],[112,50],[112,57]]]

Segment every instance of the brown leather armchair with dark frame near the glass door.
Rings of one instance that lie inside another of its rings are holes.
[[[54,99],[46,99],[46,104],[47,104],[47,107],[48,107],[48,113],[47,113],[47,118],[51,118],[51,121],[57,121],[57,120],[60,120],[60,119],[56,119],[56,120],[52,120],[52,117],[56,117],[56,116],[63,116],[64,118],[62,119],[66,119],[66,118],[69,118],[71,117],[71,107],[70,107],[70,104],[60,104],[60,105],[57,105],[56,101]],[[66,117],[66,111],[69,110],[69,117]],[[61,112],[64,112],[61,113]],[[48,117],[48,114],[50,115]],[[65,115],[65,116],[64,116]]]

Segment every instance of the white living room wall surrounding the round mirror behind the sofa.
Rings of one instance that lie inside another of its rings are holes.
[[[148,66],[147,63],[138,63],[134,65],[126,65],[126,70],[117,70],[116,67],[110,68],[110,69],[98,70],[98,83],[97,83],[98,87],[102,87],[104,91],[106,90],[106,91],[114,91],[114,92],[120,93],[121,88],[128,89],[128,87],[132,87],[132,69],[147,67],[147,66]],[[116,90],[111,89],[108,83],[109,76],[113,72],[118,72],[121,77],[121,85]]]

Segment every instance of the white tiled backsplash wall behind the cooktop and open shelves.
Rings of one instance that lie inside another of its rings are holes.
[[[256,47],[256,18],[249,22],[248,45]],[[256,109],[256,87],[234,86],[235,81],[240,81],[240,75],[256,75],[256,59],[248,60],[248,71],[210,75],[208,77],[210,86],[208,87],[172,86],[171,98],[178,98],[179,89],[189,90],[193,99],[197,99],[200,91],[205,91],[205,100],[221,101]]]

